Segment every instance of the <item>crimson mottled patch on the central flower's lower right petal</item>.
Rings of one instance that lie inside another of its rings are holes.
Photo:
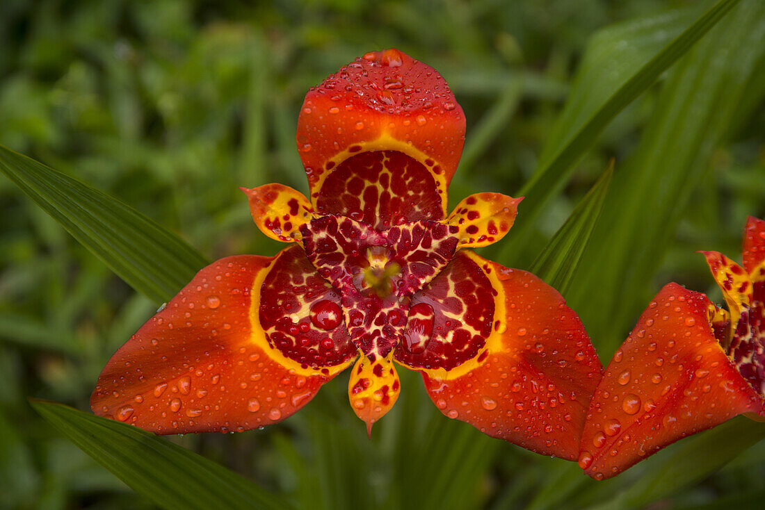
[[[414,316],[412,310],[416,310]],[[458,252],[428,287],[412,296],[409,317],[422,321],[415,323],[422,333],[432,320],[430,339],[410,336],[399,343],[394,357],[415,368],[453,369],[477,356],[491,333],[494,298],[490,281],[474,261]]]

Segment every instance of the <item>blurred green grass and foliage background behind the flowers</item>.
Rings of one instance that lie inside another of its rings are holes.
[[[666,282],[720,302],[695,251],[740,259],[746,216],[765,216],[758,3],[741,2],[620,112],[520,241],[511,231],[484,251],[529,267],[615,158],[604,214],[566,293],[604,363]],[[711,4],[3,0],[0,144],[118,197],[210,260],[272,255],[280,245],[252,224],[237,187],[307,190],[298,110],[308,87],[341,65],[398,47],[435,67],[467,116],[451,203],[515,194],[604,99],[599,86],[620,83]],[[157,306],[0,177],[0,508],[154,508],[26,399],[86,411],[106,360]],[[676,486],[640,489],[660,456],[596,484],[572,463],[448,421],[410,373],[367,440],[346,377],[283,424],[174,440],[300,508],[726,508],[765,497],[760,430],[721,469],[708,446],[699,455],[711,467]],[[646,496],[626,502],[630,490]]]

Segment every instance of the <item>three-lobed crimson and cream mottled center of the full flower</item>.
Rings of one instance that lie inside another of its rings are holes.
[[[308,260],[340,292],[348,332],[374,361],[403,339],[412,294],[457,249],[457,228],[434,221],[377,230],[344,216],[321,216],[301,229]]]

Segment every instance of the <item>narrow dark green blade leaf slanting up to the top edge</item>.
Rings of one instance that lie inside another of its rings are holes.
[[[594,145],[597,137],[610,121],[636,97],[645,92],[673,63],[685,55],[739,1],[720,0],[717,2],[683,31],[679,37],[662,47],[651,60],[642,67],[636,68],[635,72],[624,80],[623,85],[615,93],[607,96],[601,106],[594,109],[588,117],[588,121],[576,129],[575,135],[558,135],[562,141],[565,140],[565,143],[562,143],[555,151],[549,150],[555,155],[543,158],[532,179],[519,193],[516,193],[516,196],[523,195],[526,197],[524,214],[519,215],[516,219],[513,226],[514,236],[503,245],[503,250],[500,252],[500,260],[503,263],[513,265],[511,257],[516,252],[520,252],[521,245],[526,242],[529,230],[532,229],[537,216],[542,213],[547,200],[555,196],[565,186],[574,171],[575,164]],[[612,54],[610,57],[613,58],[615,55]],[[641,58],[639,56],[631,60],[632,65],[639,64]],[[588,106],[591,107],[592,104]],[[571,124],[571,127],[573,126],[574,124]]]

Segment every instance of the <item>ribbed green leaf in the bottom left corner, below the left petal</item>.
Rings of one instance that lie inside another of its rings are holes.
[[[223,466],[145,430],[62,404],[31,404],[77,447],[161,507],[291,508]]]

